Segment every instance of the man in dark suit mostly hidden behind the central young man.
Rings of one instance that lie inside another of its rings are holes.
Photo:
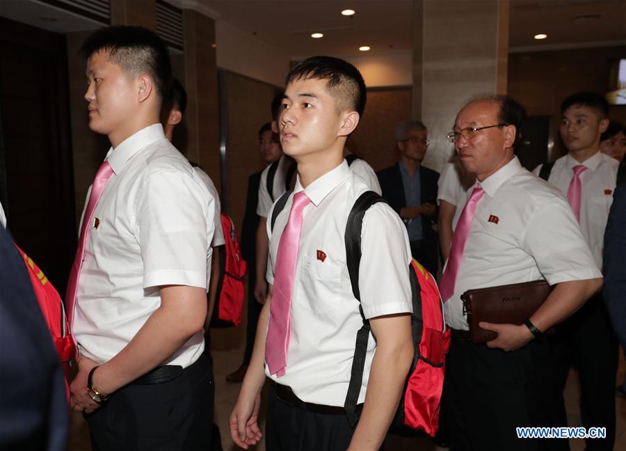
[[[259,154],[266,164],[272,164],[282,155],[278,134],[272,132],[271,123],[264,124],[259,129]],[[246,375],[250,357],[252,357],[252,347],[255,344],[257,333],[257,322],[262,304],[255,299],[255,284],[257,281],[256,252],[257,252],[257,227],[259,225],[259,215],[257,215],[257,203],[259,202],[259,184],[261,183],[261,173],[259,171],[248,177],[248,194],[246,195],[246,212],[243,214],[243,225],[241,225],[241,256],[248,262],[248,325],[246,326],[246,351],[243,353],[243,363],[234,372],[227,375],[229,382],[243,381]]]

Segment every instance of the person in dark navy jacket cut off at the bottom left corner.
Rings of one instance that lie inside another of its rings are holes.
[[[63,370],[24,260],[0,225],[0,450],[65,450]]]

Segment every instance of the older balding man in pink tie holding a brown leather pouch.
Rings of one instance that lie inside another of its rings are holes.
[[[580,308],[602,274],[567,200],[513,155],[523,118],[508,97],[481,98],[460,110],[448,134],[477,179],[456,211],[440,282],[452,329],[444,393],[453,450],[568,449],[566,440],[518,438],[515,428],[565,426],[553,424],[563,398],[550,383],[542,333]],[[554,290],[524,324],[481,322],[497,338],[470,340],[463,292],[542,279]]]

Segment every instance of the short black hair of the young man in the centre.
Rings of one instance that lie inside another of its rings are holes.
[[[285,84],[299,79],[328,80],[328,91],[337,108],[354,109],[363,116],[367,102],[365,81],[361,72],[347,61],[332,56],[306,58],[289,71]]]

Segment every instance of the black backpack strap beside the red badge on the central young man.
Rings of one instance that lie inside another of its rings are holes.
[[[378,193],[374,191],[362,193],[354,203],[348,215],[348,221],[346,222],[346,263],[348,265],[348,274],[350,274],[352,292],[359,302],[361,300],[359,292],[359,267],[361,262],[361,228],[363,225],[363,216],[365,216],[365,212],[367,212],[367,209],[371,207],[371,205],[378,202],[385,202]],[[350,422],[351,427],[354,427],[358,420],[356,406],[361,391],[361,383],[363,381],[363,369],[365,367],[365,356],[367,355],[367,340],[369,339],[369,321],[365,319],[360,303],[359,311],[363,319],[363,326],[357,333],[350,383],[348,385],[346,401],[344,402],[344,409],[346,409],[346,415],[348,416],[348,422]]]

